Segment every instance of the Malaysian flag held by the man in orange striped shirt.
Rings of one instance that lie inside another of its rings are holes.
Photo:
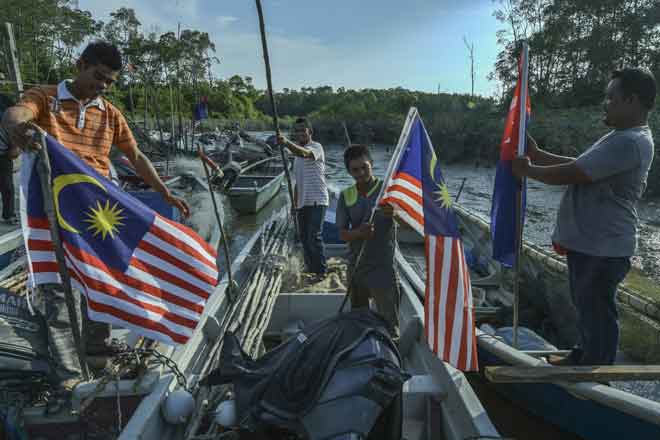
[[[55,215],[71,283],[89,318],[184,344],[217,285],[216,252],[47,137]],[[29,283],[60,283],[36,157],[24,155],[21,222]]]

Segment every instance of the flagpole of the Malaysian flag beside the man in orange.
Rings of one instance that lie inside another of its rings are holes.
[[[82,371],[85,381],[89,380],[89,372],[87,370],[87,360],[85,356],[85,345],[83,341],[83,334],[78,327],[78,312],[76,304],[73,299],[73,290],[71,289],[71,278],[66,265],[64,256],[64,249],[62,248],[62,240],[60,238],[60,231],[57,227],[57,217],[55,215],[55,203],[53,200],[53,189],[51,187],[51,168],[50,160],[48,158],[48,146],[46,144],[46,133],[39,130],[41,136],[41,149],[39,150],[39,160],[37,161],[37,172],[39,180],[41,181],[41,192],[44,198],[44,210],[48,217],[48,224],[50,227],[50,235],[55,248],[55,258],[57,260],[57,268],[60,273],[62,287],[64,288],[64,299],[66,301],[66,308],[69,313],[69,321],[71,323],[71,331],[73,333],[73,340],[78,349],[78,361],[80,362],[80,369]]]

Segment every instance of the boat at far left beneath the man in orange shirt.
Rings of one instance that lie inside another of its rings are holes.
[[[206,203],[210,203],[207,200],[208,187],[197,177],[177,176],[168,180],[166,185],[173,193],[186,197],[193,209],[202,210]],[[164,203],[160,194],[138,190],[132,195],[161,215],[179,220],[176,211]],[[188,225],[217,247],[219,229],[209,227],[208,223],[207,218],[191,217]],[[6,247],[22,248],[20,229],[17,232],[3,236],[0,241]],[[178,352],[173,347],[146,340],[125,329],[113,328],[111,336],[125,350],[123,355],[114,358],[106,371],[97,372],[95,378],[76,386],[70,394],[51,388],[47,349],[44,353],[34,348],[44,343],[47,347],[47,342],[43,318],[27,311],[30,306],[26,301],[25,265],[25,256],[22,255],[0,270],[0,323],[13,333],[12,320],[16,320],[13,321],[18,326],[15,329],[32,333],[26,336],[26,333],[16,331],[10,343],[3,340],[4,344],[0,344],[0,419],[4,432],[12,440],[73,439],[85,438],[88,434],[96,438],[117,438],[143,399],[177,373],[180,379],[183,377],[177,364],[171,360]],[[196,345],[186,347],[194,351]]]

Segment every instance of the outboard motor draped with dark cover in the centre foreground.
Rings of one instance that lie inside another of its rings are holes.
[[[241,438],[278,438],[277,432],[309,440],[400,440],[409,377],[385,321],[359,309],[313,324],[257,360],[228,333],[220,367],[202,383],[233,384]]]

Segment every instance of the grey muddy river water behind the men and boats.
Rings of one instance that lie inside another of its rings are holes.
[[[341,145],[324,145],[326,152],[326,176],[328,185],[336,190],[352,184],[342,158]],[[383,177],[394,151],[393,146],[376,145],[372,150],[374,173]],[[439,152],[442,164],[442,152]],[[486,221],[490,215],[491,195],[495,180],[495,168],[475,168],[472,165],[446,165],[443,175],[450,193],[455,197],[463,180],[465,184],[460,193],[459,202],[471,212]],[[564,187],[549,186],[535,181],[528,181],[527,212],[524,237],[538,246],[550,248],[550,236],[554,227],[559,201]],[[227,229],[232,237],[232,254],[243,247],[247,239],[268,219],[273,211],[279,209],[288,200],[286,188],[279,193],[260,213],[255,216],[238,216],[225,199],[224,216]],[[640,237],[634,265],[645,275],[660,281],[660,204],[653,201],[640,203]]]

